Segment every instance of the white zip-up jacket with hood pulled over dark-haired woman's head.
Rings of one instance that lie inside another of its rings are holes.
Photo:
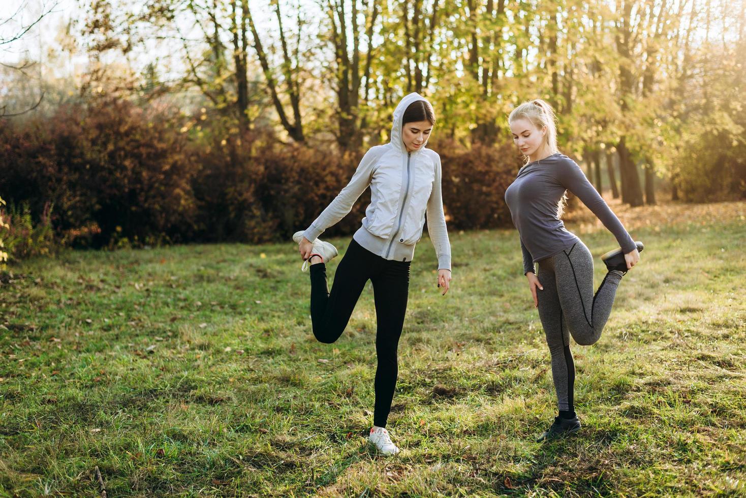
[[[411,261],[427,213],[427,231],[438,257],[438,268],[451,269],[451,244],[440,188],[440,157],[425,148],[427,141],[413,152],[407,152],[402,141],[404,111],[415,101],[427,100],[418,93],[401,99],[394,111],[391,142],[366,152],[350,183],[305,231],[306,239],[313,242],[344,218],[370,186],[371,204],[366,208],[363,226],[353,236],[357,243],[384,259]]]

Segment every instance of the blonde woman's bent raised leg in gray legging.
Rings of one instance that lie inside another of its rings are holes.
[[[572,338],[581,346],[601,338],[621,282],[621,271],[609,271],[593,293],[593,256],[583,242],[553,256],[562,312]]]

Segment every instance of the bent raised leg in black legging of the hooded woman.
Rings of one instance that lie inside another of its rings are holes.
[[[316,339],[331,344],[345,331],[370,278],[375,257],[353,239],[336,267],[331,292],[328,291],[325,263],[310,266],[311,322]]]

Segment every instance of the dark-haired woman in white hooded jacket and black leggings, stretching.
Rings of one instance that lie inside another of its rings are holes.
[[[399,452],[386,431],[386,420],[398,375],[397,349],[410,284],[410,262],[427,230],[438,257],[438,286],[443,294],[451,281],[451,245],[443,215],[440,157],[425,148],[433,130],[433,107],[421,95],[410,93],[394,111],[391,142],[372,147],[357,166],[350,183],[304,232],[298,242],[303,269],[310,266],[313,335],[327,344],[336,341],[352,315],[368,280],[373,283],[378,365],[375,406],[369,441],[380,453]],[[339,262],[331,292],[326,265],[336,248],[318,237],[341,220],[357,198],[371,187],[371,204],[363,226],[354,234]]]

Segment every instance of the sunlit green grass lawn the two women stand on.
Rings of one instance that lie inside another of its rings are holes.
[[[446,297],[423,239],[396,458],[363,438],[372,292],[336,344],[316,342],[292,244],[27,262],[0,286],[0,494],[98,496],[96,466],[110,497],[746,494],[745,212],[638,224],[647,248],[601,341],[573,346],[583,429],[549,444],[534,441],[555,397],[517,234],[451,233]],[[598,267],[612,236],[574,228]]]

